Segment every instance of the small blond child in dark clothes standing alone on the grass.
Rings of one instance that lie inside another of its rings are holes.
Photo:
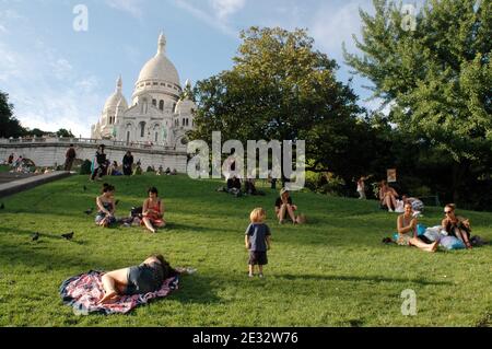
[[[244,243],[249,249],[249,277],[253,278],[255,265],[258,265],[259,277],[263,277],[263,266],[268,264],[267,249],[270,249],[270,228],[265,224],[267,212],[262,208],[256,208],[249,214],[251,223],[246,229]]]

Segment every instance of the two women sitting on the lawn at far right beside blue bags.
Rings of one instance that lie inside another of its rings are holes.
[[[448,236],[454,236],[461,241],[467,248],[472,248],[470,242],[471,225],[466,218],[456,216],[456,206],[448,203],[444,208],[445,217],[441,221],[441,228]],[[405,213],[397,219],[398,235],[396,243],[401,246],[415,246],[422,251],[435,252],[440,245],[440,240],[434,242],[423,241],[427,240],[418,234],[418,218],[413,214],[413,208],[410,202],[405,203]]]

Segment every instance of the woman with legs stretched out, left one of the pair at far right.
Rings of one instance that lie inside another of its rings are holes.
[[[398,216],[397,219],[398,240],[396,243],[400,246],[415,246],[425,252],[435,252],[440,242],[426,244],[419,240],[417,223],[418,220],[413,217],[412,205],[408,202],[405,205],[405,213]]]

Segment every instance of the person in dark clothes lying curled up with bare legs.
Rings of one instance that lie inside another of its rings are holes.
[[[104,296],[98,304],[109,303],[120,295],[157,291],[164,280],[178,274],[162,255],[152,255],[139,266],[106,272],[102,278]]]

